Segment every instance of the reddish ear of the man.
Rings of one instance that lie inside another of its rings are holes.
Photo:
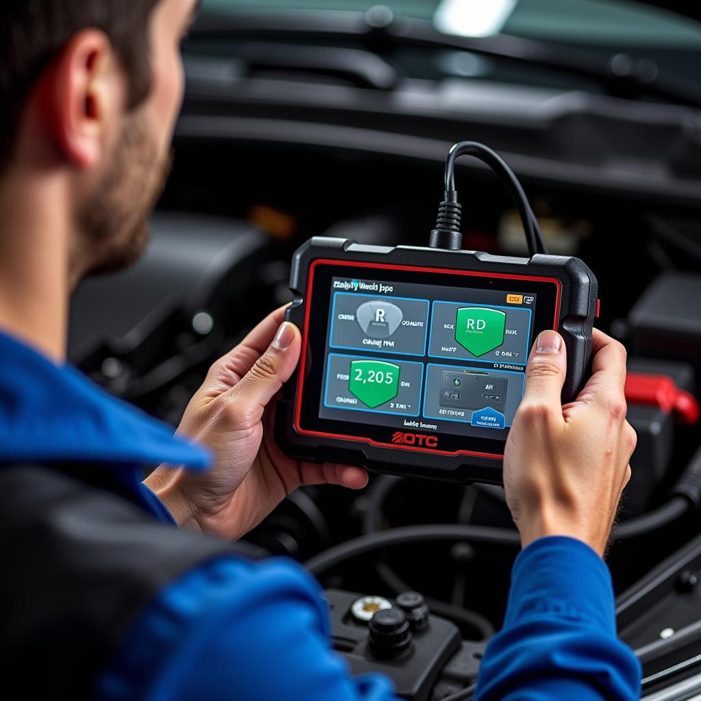
[[[109,151],[125,109],[126,79],[104,32],[85,29],[37,87],[41,119],[62,156],[91,168]]]

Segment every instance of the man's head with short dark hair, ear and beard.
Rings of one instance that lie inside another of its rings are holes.
[[[0,188],[60,179],[70,273],[136,259],[182,101],[179,43],[196,0],[4,0]]]

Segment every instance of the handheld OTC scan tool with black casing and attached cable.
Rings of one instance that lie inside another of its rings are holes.
[[[453,172],[465,154],[515,196],[530,259],[461,250]],[[451,150],[429,247],[313,238],[294,256],[290,287],[302,355],[276,419],[290,456],[498,484],[541,331],[565,339],[563,401],[585,381],[597,280],[579,259],[546,254],[515,175],[481,144]]]

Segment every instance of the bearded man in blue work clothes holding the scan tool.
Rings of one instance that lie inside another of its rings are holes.
[[[195,0],[0,8],[4,696],[390,701],[387,679],[351,679],[329,650],[310,576],[229,544],[300,484],[367,481],[360,468],[292,461],[273,442],[268,409],[300,353],[283,311],[215,363],[176,437],[65,362],[71,290],[146,243],[195,10]],[[524,551],[480,699],[639,694],[601,560],[635,444],[625,352],[597,333],[592,379],[561,407],[565,367],[560,336],[541,334],[504,468]],[[139,484],[142,465],[159,463]]]

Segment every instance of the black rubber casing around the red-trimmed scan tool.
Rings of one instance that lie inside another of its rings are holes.
[[[592,353],[592,327],[597,314],[597,280],[577,258],[538,254],[531,259],[501,257],[474,251],[440,250],[423,247],[381,247],[341,238],[316,237],[294,254],[290,289],[294,301],[287,309],[287,320],[302,330],[306,318],[306,294],[310,266],[318,259],[393,266],[441,268],[446,271],[478,271],[529,277],[554,278],[560,284],[557,330],[567,349],[567,376],[563,402],[573,400],[585,383]],[[309,323],[313,323],[310,320]],[[326,323],[326,320],[320,323]],[[311,349],[302,348],[302,353]],[[477,455],[437,454],[379,446],[360,440],[303,435],[294,428],[299,371],[283,388],[276,411],[275,438],[285,454],[312,462],[362,465],[375,472],[405,477],[429,477],[450,482],[501,484],[502,460]],[[465,439],[469,442],[469,439]]]

